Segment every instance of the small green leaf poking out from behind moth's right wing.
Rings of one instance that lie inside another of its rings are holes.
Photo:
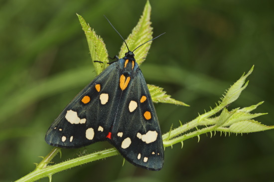
[[[154,103],[169,103],[176,104],[181,106],[189,106],[181,101],[176,101],[175,99],[170,98],[170,95],[167,95],[163,88],[147,84],[148,90],[150,92],[152,101]]]

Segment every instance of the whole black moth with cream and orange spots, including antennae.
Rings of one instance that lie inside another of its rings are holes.
[[[46,133],[48,144],[79,148],[107,140],[135,166],[162,168],[160,126],[133,52],[112,62],[65,107]]]

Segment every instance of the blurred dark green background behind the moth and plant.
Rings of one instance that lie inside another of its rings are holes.
[[[145,0],[0,0],[0,181],[34,170],[51,146],[44,135],[94,78],[76,13],[95,29],[110,56],[137,24]],[[191,107],[156,104],[162,133],[204,109],[255,64],[249,86],[228,109],[265,101],[257,120],[274,125],[274,1],[151,0],[154,37],[141,65],[149,84]],[[164,167],[146,171],[111,157],[53,176],[53,182],[263,182],[274,180],[274,131],[201,135],[165,149]],[[100,142],[62,150],[54,162],[111,147]],[[42,179],[40,182],[47,182]]]

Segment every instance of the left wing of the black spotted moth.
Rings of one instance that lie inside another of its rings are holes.
[[[48,144],[78,148],[106,140],[116,112],[112,106],[119,87],[118,66],[108,66],[65,107],[46,133]]]

